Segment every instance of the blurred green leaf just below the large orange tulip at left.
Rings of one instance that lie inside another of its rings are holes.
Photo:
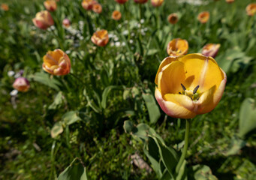
[[[49,86],[52,89],[55,89],[56,91],[59,91],[59,86],[62,86],[61,83],[59,83],[58,80],[54,79],[54,78],[50,78],[49,74],[46,74],[44,72],[40,72],[40,73],[35,73],[32,78],[38,82],[38,83],[42,83],[46,86]]]

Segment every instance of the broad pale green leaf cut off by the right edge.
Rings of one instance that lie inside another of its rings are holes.
[[[256,109],[254,99],[246,98],[239,113],[239,136],[243,137],[256,128]]]

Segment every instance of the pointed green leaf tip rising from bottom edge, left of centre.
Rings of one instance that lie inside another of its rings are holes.
[[[58,180],[87,180],[86,168],[82,162],[75,158],[72,163],[60,173]]]

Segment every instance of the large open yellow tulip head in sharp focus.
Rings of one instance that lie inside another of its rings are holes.
[[[194,118],[212,111],[221,100],[227,77],[212,57],[201,54],[167,57],[155,77],[155,98],[173,118]]]

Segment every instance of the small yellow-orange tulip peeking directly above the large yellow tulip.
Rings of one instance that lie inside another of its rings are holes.
[[[188,52],[188,41],[176,38],[170,40],[167,46],[168,55],[179,56]]]

